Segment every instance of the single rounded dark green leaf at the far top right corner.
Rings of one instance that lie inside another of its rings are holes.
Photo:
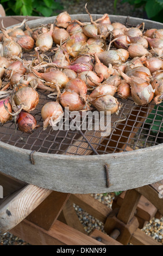
[[[153,0],[148,0],[145,6],[145,10],[149,19],[156,16],[160,12],[160,9],[160,4]]]

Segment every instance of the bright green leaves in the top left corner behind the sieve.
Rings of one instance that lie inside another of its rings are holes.
[[[49,17],[63,9],[60,2],[54,0],[1,0],[0,3],[7,15]]]

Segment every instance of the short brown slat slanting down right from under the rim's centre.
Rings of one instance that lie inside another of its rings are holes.
[[[111,212],[111,209],[89,194],[71,194],[70,200],[103,223]]]

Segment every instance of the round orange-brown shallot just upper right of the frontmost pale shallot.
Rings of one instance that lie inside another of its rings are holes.
[[[79,111],[85,108],[85,101],[80,98],[79,94],[66,90],[60,95],[60,103],[63,107],[69,107],[70,111]]]

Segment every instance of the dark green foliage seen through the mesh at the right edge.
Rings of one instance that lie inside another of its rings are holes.
[[[151,126],[150,129],[153,133],[163,132],[163,103],[160,103],[159,106],[155,105],[146,120],[146,124]]]

